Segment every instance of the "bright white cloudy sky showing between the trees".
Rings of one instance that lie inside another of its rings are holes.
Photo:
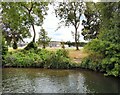
[[[82,15],[82,17],[80,19],[81,20],[85,19],[84,15]],[[55,16],[53,6],[49,5],[48,15],[45,16],[43,28],[48,33],[48,36],[51,38],[51,41],[71,41],[71,42],[74,42],[74,38],[71,34],[71,31],[74,31],[74,27],[73,26],[69,26],[69,27],[62,26],[60,29],[58,29],[56,31],[56,29],[59,26],[59,24],[58,24],[59,22],[60,22],[60,20]],[[83,26],[80,25],[80,27],[78,28],[78,31],[81,32],[82,28],[83,28]],[[38,33],[40,32],[40,27],[35,26],[35,30],[36,30],[36,40],[37,40],[39,38]],[[31,34],[33,36],[32,28],[30,29],[30,31],[31,31]],[[32,41],[32,37],[25,39],[25,41],[26,42]],[[80,35],[80,42],[83,42],[83,41],[85,41],[85,40],[83,39],[83,36]]]

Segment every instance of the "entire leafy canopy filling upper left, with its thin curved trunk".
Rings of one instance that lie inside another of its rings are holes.
[[[35,42],[35,25],[43,23],[48,3],[46,2],[4,2],[2,3],[3,34],[7,41],[17,42],[19,39],[30,35],[30,27],[33,28]]]

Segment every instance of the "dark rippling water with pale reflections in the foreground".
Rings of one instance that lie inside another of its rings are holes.
[[[85,70],[4,68],[3,93],[118,93],[120,80]]]

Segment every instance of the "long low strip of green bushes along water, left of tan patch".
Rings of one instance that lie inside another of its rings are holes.
[[[5,64],[3,66],[12,67],[40,67],[63,69],[71,68],[71,62],[68,58],[68,51],[57,50],[56,52],[47,51],[45,49],[30,49],[9,52],[5,56]]]

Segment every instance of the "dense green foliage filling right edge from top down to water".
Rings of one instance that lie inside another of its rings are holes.
[[[85,46],[89,56],[82,61],[81,67],[120,77],[120,2],[96,5],[101,15],[100,33]]]

